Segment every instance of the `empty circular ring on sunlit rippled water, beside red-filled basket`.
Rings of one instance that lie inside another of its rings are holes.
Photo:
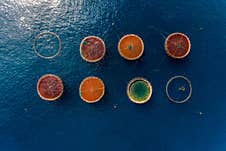
[[[41,53],[38,52],[38,50],[37,50],[38,39],[41,36],[43,36],[43,35],[52,35],[52,36],[54,36],[58,40],[59,46],[58,46],[58,50],[57,50],[57,52],[55,54],[53,54],[51,56],[45,56],[45,55],[43,55],[43,54],[41,54]],[[42,33],[38,34],[35,37],[35,39],[34,39],[33,49],[34,49],[36,55],[38,55],[41,58],[44,58],[44,59],[53,59],[53,58],[55,58],[56,56],[58,56],[60,54],[61,48],[62,48],[62,41],[61,41],[60,37],[57,34],[55,34],[54,32],[42,32]]]

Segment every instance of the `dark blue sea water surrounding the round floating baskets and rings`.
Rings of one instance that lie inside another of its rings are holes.
[[[58,57],[45,60],[33,51],[43,31],[62,39]],[[169,33],[190,37],[190,55],[166,56]],[[142,37],[145,52],[128,62],[117,51],[125,34]],[[104,39],[107,55],[89,64],[79,54],[85,36]],[[225,151],[225,0],[1,0],[0,151]],[[55,103],[40,100],[36,83],[46,73],[65,85]],[[99,76],[106,85],[102,102],[86,104],[81,80]],[[167,100],[165,85],[174,75],[192,81],[192,99]],[[142,76],[153,85],[145,105],[131,103],[127,83]]]

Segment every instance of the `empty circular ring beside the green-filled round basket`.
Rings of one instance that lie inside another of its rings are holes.
[[[169,85],[170,85],[170,83],[173,81],[173,80],[175,80],[175,79],[183,79],[183,80],[185,80],[187,83],[188,83],[188,85],[189,85],[189,94],[188,94],[188,96],[185,98],[185,99],[183,99],[183,100],[175,100],[175,99],[173,99],[171,96],[170,96],[170,94],[169,94]],[[168,97],[168,99],[171,101],[171,102],[173,102],[173,103],[178,103],[178,104],[180,104],[180,103],[185,103],[185,102],[187,102],[190,98],[191,98],[191,96],[192,96],[192,84],[191,84],[191,81],[188,79],[188,78],[186,78],[185,76],[174,76],[174,77],[172,77],[171,79],[169,79],[169,81],[167,82],[167,84],[166,84],[166,95],[167,95],[167,97]]]

